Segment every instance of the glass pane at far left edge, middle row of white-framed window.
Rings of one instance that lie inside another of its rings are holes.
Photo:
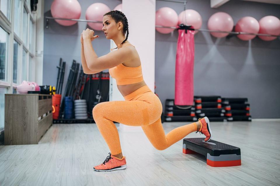
[[[9,34],[0,27],[0,80],[7,81]]]

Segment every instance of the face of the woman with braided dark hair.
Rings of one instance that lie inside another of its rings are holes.
[[[111,39],[118,33],[116,22],[109,15],[103,16],[103,28],[102,31],[105,33],[107,39]]]

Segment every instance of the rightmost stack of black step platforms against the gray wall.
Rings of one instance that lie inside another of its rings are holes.
[[[227,121],[252,121],[248,98],[222,98]]]

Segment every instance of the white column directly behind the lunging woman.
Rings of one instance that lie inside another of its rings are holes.
[[[123,0],[122,11],[128,20],[128,41],[135,46],[140,56],[144,81],[154,92],[156,1]],[[116,45],[112,46],[111,44],[111,48],[114,47]],[[113,79],[111,82],[112,101],[124,100],[116,87],[116,80]],[[142,131],[142,128],[120,124],[119,130],[139,132]]]

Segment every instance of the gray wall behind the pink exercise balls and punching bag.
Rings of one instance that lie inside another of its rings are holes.
[[[45,1],[45,15],[51,16],[52,1]],[[79,1],[82,6],[80,19],[85,19],[86,8],[98,1]],[[103,1],[113,9],[121,1]],[[156,1],[156,10],[161,7],[173,8],[178,14],[183,10],[180,3]],[[189,0],[186,9],[198,11],[203,19],[202,28],[207,29],[208,18],[215,12],[229,13],[234,24],[244,16],[257,20],[266,16],[280,17],[280,6],[267,3],[231,0],[218,9],[210,8],[210,0]],[[129,19],[129,17],[128,17]],[[56,84],[56,65],[59,58],[80,62],[80,33],[86,23],[79,22],[70,27],[60,26],[50,20],[49,29],[44,31],[44,84]],[[143,26],[143,29],[145,27]],[[109,52],[110,42],[101,37],[94,40],[93,47],[98,56]],[[167,98],[174,98],[175,58],[178,33],[156,32],[155,92],[164,105]],[[129,40],[129,37],[128,37]],[[195,35],[194,95],[220,95],[222,97],[246,97],[251,104],[253,118],[280,118],[280,40],[262,41],[255,38],[249,42],[236,37],[214,38],[208,32]],[[66,81],[64,82],[64,86]]]

